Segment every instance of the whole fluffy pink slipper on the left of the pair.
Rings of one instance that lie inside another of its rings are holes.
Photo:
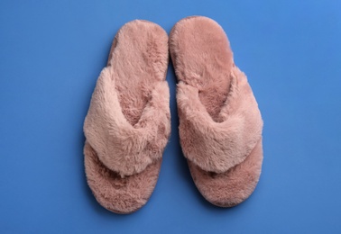
[[[109,211],[130,213],[149,199],[171,132],[165,80],[168,36],[146,21],[116,34],[84,122],[88,185]]]

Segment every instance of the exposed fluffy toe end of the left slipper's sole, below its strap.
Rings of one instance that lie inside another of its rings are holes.
[[[161,159],[139,174],[121,177],[103,165],[88,143],[84,155],[88,185],[97,202],[107,210],[131,213],[139,210],[149,200],[158,181]]]

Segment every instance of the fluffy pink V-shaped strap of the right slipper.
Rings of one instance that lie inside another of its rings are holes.
[[[226,172],[244,161],[259,139],[263,121],[243,72],[233,67],[226,102],[213,121],[198,98],[198,88],[178,85],[180,140],[185,157],[201,169]]]

